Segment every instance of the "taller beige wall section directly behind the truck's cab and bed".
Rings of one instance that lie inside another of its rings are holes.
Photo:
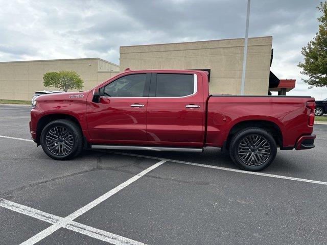
[[[272,37],[248,39],[245,94],[267,95]],[[121,71],[211,69],[211,93],[240,94],[244,39],[120,47]]]

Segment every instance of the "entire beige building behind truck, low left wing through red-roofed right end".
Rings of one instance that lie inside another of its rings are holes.
[[[245,94],[285,94],[294,88],[295,80],[281,83],[270,71],[271,46],[271,36],[249,38]],[[204,69],[210,72],[211,93],[240,94],[243,52],[244,39],[239,38],[122,46],[120,66],[99,58],[0,62],[0,99],[30,100],[35,91],[51,90],[42,81],[49,71],[75,70],[86,90],[126,68]]]

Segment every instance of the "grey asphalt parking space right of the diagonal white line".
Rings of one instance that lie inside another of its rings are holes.
[[[147,244],[322,244],[325,189],[168,162],[76,221]]]

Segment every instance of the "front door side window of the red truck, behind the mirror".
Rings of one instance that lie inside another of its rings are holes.
[[[101,95],[111,97],[143,97],[146,76],[146,74],[132,74],[119,78],[101,88]]]

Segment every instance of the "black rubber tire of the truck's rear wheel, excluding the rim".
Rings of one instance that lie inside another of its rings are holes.
[[[256,135],[260,135],[262,137],[264,137],[270,144],[270,156],[268,158],[268,160],[259,165],[259,166],[249,166],[247,164],[245,164],[239,157],[238,154],[238,146],[239,143],[241,142],[241,140],[251,134],[256,134]],[[274,140],[274,138],[265,130],[262,129],[246,129],[242,132],[240,132],[240,134],[236,135],[236,137],[232,140],[232,145],[230,148],[231,152],[231,158],[232,160],[242,169],[244,170],[250,170],[250,171],[260,171],[266,167],[268,167],[273,160],[276,157],[276,153],[277,153],[277,146],[276,146],[276,142]]]

